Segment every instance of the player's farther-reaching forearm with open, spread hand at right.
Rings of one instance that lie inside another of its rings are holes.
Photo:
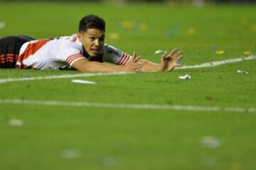
[[[177,61],[182,58],[182,51],[174,49],[161,56],[160,64],[153,63],[149,60],[142,60],[142,72],[171,72],[176,67],[181,67],[181,64],[177,64]]]

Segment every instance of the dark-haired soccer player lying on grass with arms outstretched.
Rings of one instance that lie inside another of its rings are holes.
[[[0,39],[0,68],[77,69],[80,72],[171,72],[182,59],[172,50],[161,56],[160,64],[142,60],[105,44],[105,21],[88,15],[81,19],[78,34],[34,40],[28,36]],[[109,62],[112,64],[103,64]]]

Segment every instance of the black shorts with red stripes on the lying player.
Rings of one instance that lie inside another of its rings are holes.
[[[0,39],[0,68],[15,68],[21,46],[35,40],[28,36],[10,36]]]

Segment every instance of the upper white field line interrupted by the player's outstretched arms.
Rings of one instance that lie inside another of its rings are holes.
[[[251,55],[248,57],[240,57],[222,61],[215,61],[215,62],[206,62],[203,64],[196,64],[191,66],[183,66],[176,69],[197,69],[203,67],[215,67],[222,64],[234,63],[234,62],[242,62],[244,60],[255,60],[256,56]],[[132,74],[132,72],[114,72],[114,73],[80,73],[80,74],[64,74],[58,76],[49,76],[49,77],[24,77],[24,78],[9,78],[9,79],[0,79],[0,84],[11,82],[11,81],[31,81],[31,80],[42,80],[42,79],[69,79],[75,77],[95,77],[95,76],[107,76],[107,75],[114,75],[114,74]]]

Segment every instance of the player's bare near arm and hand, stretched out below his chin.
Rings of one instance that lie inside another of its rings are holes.
[[[102,64],[100,62],[90,62],[86,58],[73,63],[72,67],[80,72],[140,72],[143,64],[136,55],[125,65]]]

